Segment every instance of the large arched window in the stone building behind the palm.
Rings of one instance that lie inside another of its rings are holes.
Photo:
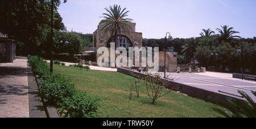
[[[112,41],[111,41],[112,39]],[[107,47],[110,48],[110,42],[115,42],[115,36],[113,36],[112,38],[109,39],[108,41],[108,45]],[[121,35],[121,38],[119,37],[119,35],[117,36],[117,47],[125,47],[126,49],[129,49],[129,47],[133,47],[133,44],[131,43],[131,40],[126,37]]]

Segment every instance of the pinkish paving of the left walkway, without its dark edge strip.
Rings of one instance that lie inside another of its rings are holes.
[[[0,65],[1,117],[29,117],[27,59]]]

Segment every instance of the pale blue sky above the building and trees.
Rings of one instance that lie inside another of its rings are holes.
[[[143,38],[199,37],[202,29],[234,27],[241,37],[256,36],[255,0],[68,0],[59,7],[68,31],[93,33],[104,8],[121,5]]]

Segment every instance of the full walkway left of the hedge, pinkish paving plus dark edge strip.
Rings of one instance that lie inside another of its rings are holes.
[[[0,63],[0,118],[46,118],[38,85],[26,58]]]

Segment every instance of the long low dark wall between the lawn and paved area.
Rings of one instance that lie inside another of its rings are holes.
[[[130,76],[135,74],[135,75],[141,76],[142,78],[144,77],[143,73],[128,70],[126,68],[118,67],[117,72],[121,72],[122,74],[130,75]],[[152,78],[154,78],[154,77],[152,77]],[[226,98],[229,97],[229,96],[226,96],[225,94],[216,93],[216,92],[212,92],[212,91],[207,91],[205,89],[192,87],[190,85],[176,83],[173,80],[168,80],[168,81],[169,82],[168,82],[167,88],[170,88],[174,91],[180,91],[181,93],[188,94],[191,97],[200,98],[202,100],[213,102],[213,103],[215,103],[215,102],[224,102],[226,104],[229,104],[229,102],[226,101]],[[238,98],[236,98],[236,99],[238,99]],[[238,100],[241,100],[241,99],[238,99]]]

